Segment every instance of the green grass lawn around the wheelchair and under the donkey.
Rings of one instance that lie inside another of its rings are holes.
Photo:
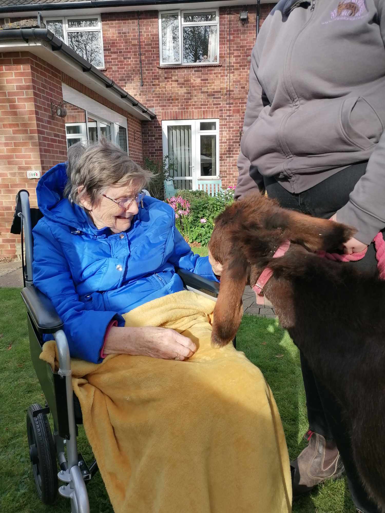
[[[206,248],[197,248],[202,252]],[[24,304],[18,289],[0,288],[0,504],[2,513],[69,512],[69,501],[59,497],[52,507],[35,494],[27,449],[26,410],[31,403],[44,405],[29,355]],[[298,351],[274,319],[245,315],[237,336],[237,347],[264,373],[281,413],[290,456],[304,447],[307,428],[304,391]],[[79,427],[79,450],[90,463],[92,454]],[[263,435],[261,435],[263,436]],[[112,513],[103,481],[98,473],[87,486],[92,512]],[[258,507],[256,507],[258,511]],[[344,480],[320,486],[293,506],[294,513],[354,513]],[[188,513],[188,511],[186,511]],[[264,513],[264,512],[260,512]]]

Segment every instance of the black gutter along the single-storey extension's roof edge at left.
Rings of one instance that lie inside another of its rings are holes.
[[[81,55],[74,52],[69,46],[63,43],[59,39],[59,37],[56,37],[53,35],[53,33],[48,29],[37,29],[37,28],[24,28],[24,29],[6,29],[6,30],[0,30],[0,41],[2,40],[10,40],[10,39],[22,39],[26,43],[29,42],[29,40],[44,40],[47,43],[51,44],[52,51],[61,51],[67,57],[70,57],[72,61],[75,61],[76,63],[80,64],[83,71],[85,73],[91,73],[95,77],[99,78],[100,82],[103,82],[105,86],[109,89],[112,89],[113,91],[120,94],[120,97],[123,100],[127,100],[132,107],[139,107],[143,113],[148,114],[151,118],[151,120],[155,119],[156,115],[147,109],[143,104],[138,102],[136,98],[128,94],[127,91],[124,91],[121,87],[117,86],[111,78],[108,78],[104,73],[102,73],[98,68],[95,68],[92,66],[91,63],[86,61]]]

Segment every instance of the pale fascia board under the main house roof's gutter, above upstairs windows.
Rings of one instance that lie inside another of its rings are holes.
[[[111,0],[113,2],[115,0]],[[261,0],[261,4],[268,4],[272,2],[272,0]],[[57,5],[57,4],[56,4]],[[219,7],[245,7],[248,6],[254,7],[255,4],[247,3],[244,0],[218,0],[218,2],[194,2],[193,4],[153,4],[153,5],[136,5],[136,6],[119,6],[119,7],[87,7],[82,9],[77,9],[76,2],[73,3],[74,9],[52,9],[52,10],[44,10],[41,11],[43,18],[53,17],[53,16],[82,16],[86,14],[101,14],[106,12],[130,12],[130,11],[171,11],[171,10],[186,10],[186,9],[215,9]],[[26,11],[26,12],[9,12],[2,13],[3,17],[6,18],[20,18],[27,16],[36,16],[37,11],[39,11],[39,4],[36,4],[36,10],[34,11]]]

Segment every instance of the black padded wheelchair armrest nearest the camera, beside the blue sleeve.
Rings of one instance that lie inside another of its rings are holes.
[[[43,292],[30,286],[22,289],[22,298],[35,328],[39,333],[54,333],[63,329],[63,322]]]

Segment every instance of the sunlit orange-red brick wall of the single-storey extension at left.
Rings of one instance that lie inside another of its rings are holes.
[[[28,52],[0,53],[0,259],[14,256],[20,238],[9,233],[18,190],[30,192],[36,206],[36,180],[67,159],[65,123],[51,115],[51,101],[63,101],[62,82],[127,118],[130,156],[142,164],[141,122],[99,94]],[[70,121],[69,121],[70,122]]]

